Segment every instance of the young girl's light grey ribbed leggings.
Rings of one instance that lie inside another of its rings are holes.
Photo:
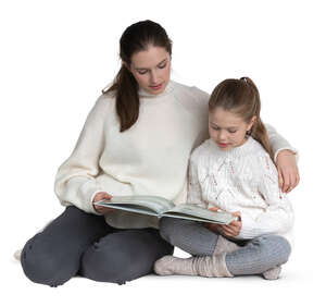
[[[193,256],[213,255],[220,236],[201,223],[172,218],[161,219],[160,232],[172,245]],[[233,275],[263,273],[287,262],[291,253],[288,241],[278,235],[262,235],[235,243],[241,248],[225,257],[226,267]]]

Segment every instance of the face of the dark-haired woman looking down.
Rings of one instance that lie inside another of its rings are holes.
[[[150,46],[148,50],[133,54],[129,69],[139,87],[158,95],[168,84],[171,57],[165,48]]]

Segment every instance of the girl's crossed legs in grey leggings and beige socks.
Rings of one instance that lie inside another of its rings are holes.
[[[235,277],[262,274],[277,279],[280,266],[291,253],[288,241],[266,234],[250,241],[226,240],[193,221],[163,218],[161,235],[172,245],[191,254],[188,259],[163,257],[155,263],[159,274]]]

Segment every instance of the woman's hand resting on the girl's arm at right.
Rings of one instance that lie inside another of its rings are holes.
[[[278,185],[283,193],[292,191],[300,181],[296,156],[290,150],[281,150],[276,159]]]

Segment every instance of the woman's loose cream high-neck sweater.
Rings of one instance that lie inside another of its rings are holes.
[[[75,149],[58,171],[54,191],[62,205],[97,213],[92,199],[98,192],[186,201],[190,154],[209,137],[209,95],[171,81],[162,94],[140,89],[139,98],[137,122],[121,133],[114,95],[99,97]],[[269,139],[275,155],[291,149],[271,127]],[[118,210],[105,219],[115,228],[158,228],[153,217]]]

